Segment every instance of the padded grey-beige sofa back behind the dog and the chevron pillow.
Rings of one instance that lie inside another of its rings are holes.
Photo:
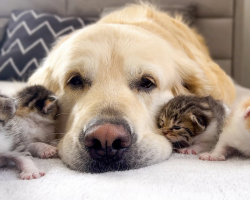
[[[215,61],[238,83],[242,73],[242,20],[244,0],[157,0],[164,9],[169,5],[193,5],[194,25],[205,37]],[[10,13],[17,9],[34,9],[60,16],[79,16],[86,21],[99,18],[105,8],[120,7],[133,0],[1,0],[0,41]]]

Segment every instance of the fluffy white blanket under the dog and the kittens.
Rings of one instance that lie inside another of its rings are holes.
[[[237,91],[238,97],[250,97],[249,90],[237,87]],[[15,166],[0,169],[0,200],[250,199],[246,158],[208,162],[174,153],[153,166],[103,174],[72,171],[59,159],[34,160],[46,172],[40,179],[20,180]]]

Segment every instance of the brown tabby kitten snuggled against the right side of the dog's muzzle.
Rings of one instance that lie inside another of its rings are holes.
[[[179,153],[198,154],[215,146],[229,112],[211,96],[180,95],[163,107],[158,125]]]

